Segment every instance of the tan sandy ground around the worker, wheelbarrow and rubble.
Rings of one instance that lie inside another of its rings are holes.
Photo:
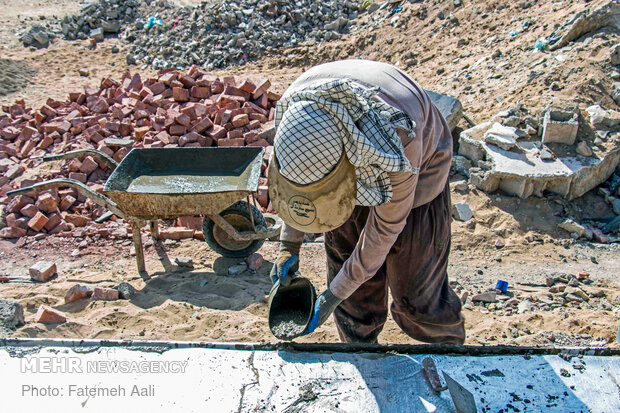
[[[592,1],[588,7],[602,3]],[[39,15],[70,14],[79,10],[79,4],[63,0],[38,3],[0,0],[2,58],[23,61],[37,70],[25,89],[0,96],[0,103],[25,98],[28,104],[36,107],[48,97],[64,98],[68,92],[96,84],[102,77],[118,79],[127,70],[144,75],[152,73],[146,68],[128,68],[124,46],[118,40],[106,40],[95,50],[89,50],[85,42],[56,41],[50,48],[37,51],[24,49],[19,44],[16,34],[39,19]],[[506,4],[499,10],[499,2],[487,1],[467,2],[456,9],[452,2],[426,4],[428,10],[424,19],[420,18],[418,5],[413,5],[402,13],[401,19],[406,24],[401,27],[389,25],[388,19],[372,30],[362,30],[335,43],[299,47],[216,73],[268,77],[276,90],[283,91],[296,76],[320,62],[364,57],[403,67],[405,57],[413,55],[418,64],[406,70],[425,87],[461,99],[466,113],[475,122],[485,121],[517,102],[533,112],[541,110],[552,99],[578,103],[582,108],[592,101],[615,108],[609,97],[612,81],[606,59],[609,47],[617,42],[617,35],[603,32],[587,42],[580,39],[558,52],[537,52],[532,50],[535,40],[550,34],[556,23],[563,22],[584,5],[568,1],[539,2],[532,8],[521,9],[520,4]],[[452,13],[458,23],[439,19],[439,12],[445,16]],[[35,20],[24,21],[24,17]],[[511,32],[522,29],[524,21],[530,22],[527,30],[510,36]],[[120,53],[111,53],[114,44],[121,48]],[[492,58],[498,49],[501,55]],[[77,70],[81,67],[89,69],[89,77],[79,76]],[[534,79],[530,80],[532,77]],[[554,82],[559,90],[551,89]],[[468,291],[471,295],[503,279],[510,283],[511,292],[517,296],[544,295],[548,290],[544,285],[545,275],[587,271],[593,283],[584,289],[587,292],[603,290],[606,301],[616,302],[613,304],[616,309],[620,306],[617,301],[620,248],[618,245],[571,243],[568,234],[556,228],[559,219],[555,214],[561,201],[518,200],[477,190],[454,192],[452,196],[453,202],[470,204],[476,222],[475,226],[454,222],[452,227],[449,274],[451,280],[458,283],[459,292]],[[565,207],[577,218],[610,214],[609,208],[595,194],[588,194]],[[146,233],[144,236],[147,237]],[[506,241],[506,247],[501,250],[495,248],[498,237]],[[129,255],[130,240],[92,241],[79,256],[72,257],[71,253],[81,241],[56,237],[17,245],[0,241],[0,273],[26,275],[28,267],[42,259],[53,260],[59,266],[58,278],[45,284],[0,284],[1,298],[16,299],[26,309],[27,324],[17,330],[15,336],[275,341],[267,327],[264,297],[270,288],[267,274],[276,255],[276,244],[268,242],[261,249],[268,262],[258,274],[235,277],[225,274],[228,266],[236,262],[217,256],[200,241],[166,245],[165,254],[160,249],[162,260],[158,259],[155,247],[150,246],[147,247],[149,277],[141,278],[135,259]],[[180,256],[193,258],[195,269],[180,271],[170,264]],[[325,287],[324,266],[322,245],[305,245],[301,270],[319,290]],[[130,282],[139,291],[131,300],[81,300],[64,305],[64,294],[75,283],[113,287],[121,281]],[[53,326],[35,323],[34,314],[41,304],[66,312],[68,322]],[[588,335],[617,345],[614,343],[617,314],[587,303],[511,316],[488,313],[481,307],[464,310],[469,344],[562,344],[564,342],[557,337],[564,335],[570,337],[568,343],[583,343],[579,336]],[[320,331],[300,341],[337,339],[330,320]],[[592,341],[584,340],[585,343]],[[415,342],[404,335],[391,318],[380,341]]]

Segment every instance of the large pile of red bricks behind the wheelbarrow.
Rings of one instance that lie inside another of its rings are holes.
[[[27,108],[23,100],[3,106],[0,206],[5,205],[5,222],[0,219],[0,237],[75,236],[76,228],[87,226],[84,234],[106,236],[105,228],[91,223],[103,208],[73,189],[50,190],[36,198],[6,197],[12,189],[53,177],[76,179],[101,192],[109,176],[105,164],[92,157],[68,161],[53,176],[25,173],[44,155],[95,148],[120,161],[132,147],[268,147],[280,98],[269,88],[269,80],[237,83],[234,77],[219,78],[192,67],[187,73],[161,71],[146,80],[129,73],[121,82],[106,78],[99,87],[71,93],[66,102],[49,99],[39,110]],[[264,175],[260,183],[257,200],[266,209]]]

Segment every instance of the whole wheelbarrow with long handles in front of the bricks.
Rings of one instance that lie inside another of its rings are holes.
[[[117,163],[103,152],[82,149],[43,160],[89,155],[101,160],[112,169],[103,194],[77,180],[58,178],[7,195],[75,188],[131,222],[140,272],[145,271],[140,228],[148,222],[151,235],[159,238],[158,219],[204,216],[202,232],[212,250],[225,257],[247,257],[265,239],[278,236],[282,227],[278,216],[260,212],[252,196],[258,188],[264,152],[262,147],[134,148]]]

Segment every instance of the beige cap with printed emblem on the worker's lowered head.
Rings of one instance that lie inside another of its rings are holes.
[[[280,174],[274,150],[268,180],[273,208],[287,225],[305,233],[334,230],[349,219],[355,208],[355,167],[344,151],[336,167],[323,179],[298,185]]]

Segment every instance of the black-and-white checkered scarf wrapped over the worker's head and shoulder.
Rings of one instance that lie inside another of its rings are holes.
[[[388,172],[418,173],[404,154],[397,129],[413,135],[405,113],[351,80],[315,83],[278,101],[275,151],[279,171],[308,185],[338,164],[344,150],[355,166],[357,205],[375,206],[392,199]]]

